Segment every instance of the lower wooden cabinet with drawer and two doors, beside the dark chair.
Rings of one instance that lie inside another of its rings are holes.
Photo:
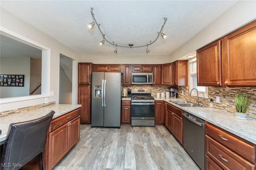
[[[46,138],[44,162],[52,170],[80,138],[80,109],[52,120]]]

